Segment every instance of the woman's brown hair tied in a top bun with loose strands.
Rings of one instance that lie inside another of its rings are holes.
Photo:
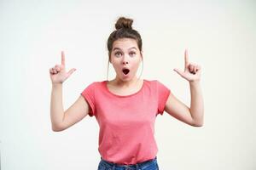
[[[109,67],[110,56],[113,48],[113,42],[120,38],[132,38],[136,40],[137,47],[139,48],[140,53],[142,52],[143,41],[138,31],[132,29],[132,26],[131,26],[132,22],[133,22],[132,19],[128,19],[125,17],[119,17],[119,20],[116,21],[115,23],[116,30],[113,31],[108,37],[108,67]]]

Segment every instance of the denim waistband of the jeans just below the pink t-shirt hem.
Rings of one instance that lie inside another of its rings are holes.
[[[155,156],[154,159],[151,159],[148,161],[143,161],[143,162],[139,162],[136,164],[125,165],[125,164],[118,164],[118,163],[106,161],[106,160],[103,160],[101,157],[101,163],[105,164],[108,167],[113,167],[113,168],[114,167],[136,167],[138,169],[139,167],[143,167],[144,165],[146,165],[148,163],[152,163],[153,161],[156,161],[156,160],[157,160],[157,156]]]

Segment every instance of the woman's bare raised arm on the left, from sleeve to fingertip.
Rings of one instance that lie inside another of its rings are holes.
[[[55,67],[49,69],[49,77],[52,82],[50,119],[52,130],[55,132],[71,127],[89,113],[89,105],[82,96],[79,96],[79,99],[77,99],[67,111],[63,110],[62,84],[73,71],[75,71],[75,69],[66,72],[64,52],[61,52],[61,65],[55,65]]]

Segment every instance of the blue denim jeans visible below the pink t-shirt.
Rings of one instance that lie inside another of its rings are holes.
[[[133,165],[120,165],[103,160],[101,157],[98,170],[159,170],[159,167],[157,163],[157,156],[155,156],[153,160],[143,161]]]

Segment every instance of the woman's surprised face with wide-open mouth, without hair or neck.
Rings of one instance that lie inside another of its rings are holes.
[[[121,38],[113,42],[110,63],[122,81],[130,81],[136,76],[143,56],[132,38]]]

